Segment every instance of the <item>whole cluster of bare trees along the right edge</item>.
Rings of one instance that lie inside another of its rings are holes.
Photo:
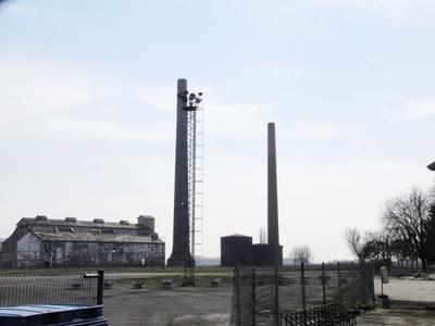
[[[415,264],[423,273],[435,263],[435,189],[423,191],[413,187],[409,192],[385,202],[380,231],[361,234],[348,228],[345,239],[352,253],[365,262],[384,264],[393,261]]]

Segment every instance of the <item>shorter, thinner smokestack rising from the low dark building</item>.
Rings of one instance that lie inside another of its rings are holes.
[[[268,123],[268,243],[279,246],[274,123]]]

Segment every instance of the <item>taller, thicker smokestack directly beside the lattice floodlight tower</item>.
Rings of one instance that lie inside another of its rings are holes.
[[[175,188],[174,188],[174,237],[167,266],[184,266],[192,261],[189,251],[188,215],[188,165],[187,165],[187,112],[179,95],[187,91],[187,80],[177,80]]]

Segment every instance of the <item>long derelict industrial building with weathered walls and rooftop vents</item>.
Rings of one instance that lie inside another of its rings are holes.
[[[24,217],[3,241],[2,267],[147,265],[164,266],[164,242],[154,217],[128,221]]]

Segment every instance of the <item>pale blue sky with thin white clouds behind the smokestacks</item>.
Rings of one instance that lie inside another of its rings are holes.
[[[176,80],[203,91],[204,256],[266,226],[276,124],[284,255],[435,175],[432,0],[0,3],[0,238],[21,217],[156,216],[172,249]]]

